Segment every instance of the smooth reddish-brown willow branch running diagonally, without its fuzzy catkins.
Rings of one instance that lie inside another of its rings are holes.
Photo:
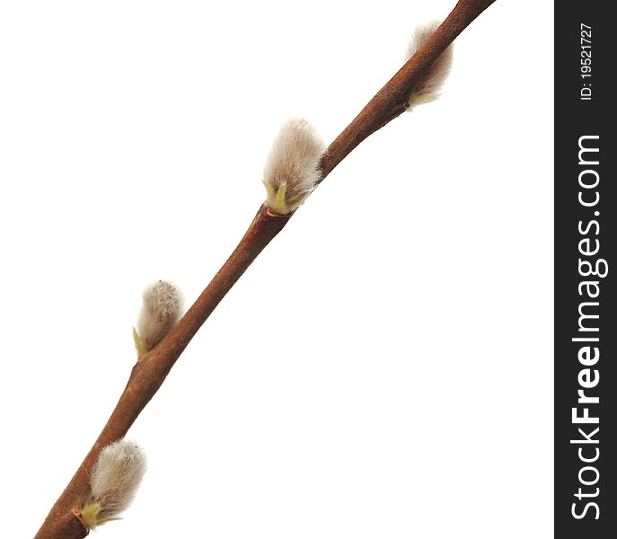
[[[419,77],[456,36],[494,1],[461,0],[456,4],[445,22],[328,147],[321,161],[322,180],[366,137],[405,110]],[[49,511],[35,539],[79,539],[88,535],[86,526],[78,517],[78,510],[89,494],[88,474],[101,449],[126,435],[216,305],[290,217],[274,215],[262,206],[232,255],[181,321],[152,352],[137,361],[110,419]]]

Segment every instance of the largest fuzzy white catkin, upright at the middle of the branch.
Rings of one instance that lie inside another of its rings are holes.
[[[289,119],[278,132],[263,172],[266,206],[287,215],[297,209],[321,178],[319,162],[325,145],[305,119]]]

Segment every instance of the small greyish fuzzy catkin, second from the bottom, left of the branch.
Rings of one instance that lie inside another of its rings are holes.
[[[156,281],[144,291],[144,305],[137,319],[137,333],[146,350],[163,340],[181,317],[180,290],[163,280]]]

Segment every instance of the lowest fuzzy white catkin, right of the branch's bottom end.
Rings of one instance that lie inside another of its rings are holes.
[[[145,467],[145,453],[133,442],[121,439],[103,448],[90,477],[91,501],[101,507],[101,522],[128,508]]]

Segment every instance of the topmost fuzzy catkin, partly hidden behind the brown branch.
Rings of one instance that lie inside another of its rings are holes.
[[[425,22],[419,24],[413,36],[411,38],[409,47],[407,49],[407,58],[412,57],[416,51],[420,48],[437,27],[441,24],[440,21]],[[430,66],[420,79],[418,84],[410,93],[410,99],[408,100],[408,110],[414,105],[435,101],[439,97],[439,91],[442,89],[445,79],[450,74],[453,60],[453,46],[450,45],[445,51],[436,59],[435,63]]]

